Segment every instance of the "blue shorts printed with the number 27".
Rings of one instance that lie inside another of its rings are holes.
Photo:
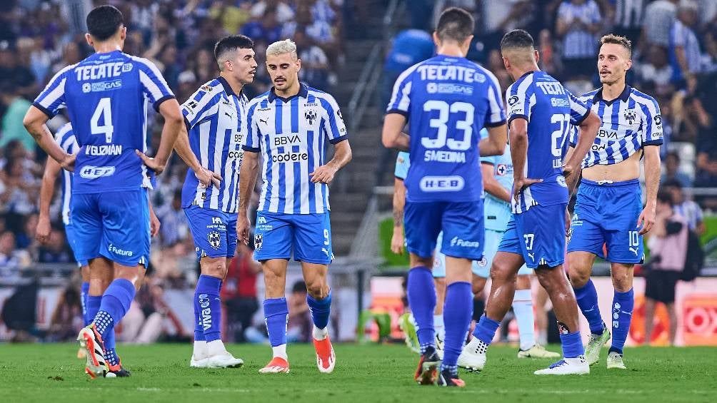
[[[499,252],[523,256],[528,268],[555,267],[565,261],[566,204],[533,205],[511,216]]]

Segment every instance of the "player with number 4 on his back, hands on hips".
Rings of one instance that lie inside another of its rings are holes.
[[[71,201],[77,258],[89,261],[90,278],[114,271],[98,313],[78,340],[87,349],[85,372],[90,377],[118,377],[128,374],[114,349],[105,351],[103,341],[129,309],[148,263],[148,168],[163,171],[184,122],[154,64],[121,52],[127,29],[118,9],[92,9],[87,31],[95,54],[55,74],[27,111],[24,125],[50,157],[77,173]],[[145,154],[148,102],[164,117],[154,158]],[[75,155],[62,150],[44,125],[62,107],[67,107],[80,146]],[[101,293],[101,284],[94,290],[93,284],[90,296],[98,295],[98,289]]]

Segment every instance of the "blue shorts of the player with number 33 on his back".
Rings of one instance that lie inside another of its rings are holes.
[[[406,202],[404,228],[410,253],[433,256],[439,233],[442,253],[454,258],[483,258],[483,200],[475,202]]]

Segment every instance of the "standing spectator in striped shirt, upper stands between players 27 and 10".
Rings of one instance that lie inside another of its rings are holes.
[[[556,34],[563,37],[566,79],[587,79],[595,72],[600,10],[594,0],[565,0],[558,8]]]

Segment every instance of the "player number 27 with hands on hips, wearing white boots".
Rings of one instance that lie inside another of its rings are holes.
[[[553,302],[564,359],[535,374],[588,374],[578,329],[575,296],[563,271],[568,182],[576,175],[600,124],[599,118],[560,82],[538,69],[533,37],[522,29],[500,41],[503,64],[516,80],[505,93],[513,160],[513,215],[493,258],[485,314],[465,346],[469,369],[485,366],[485,351],[513,302],[523,263],[536,272]],[[580,127],[576,149],[563,161],[570,125]]]

